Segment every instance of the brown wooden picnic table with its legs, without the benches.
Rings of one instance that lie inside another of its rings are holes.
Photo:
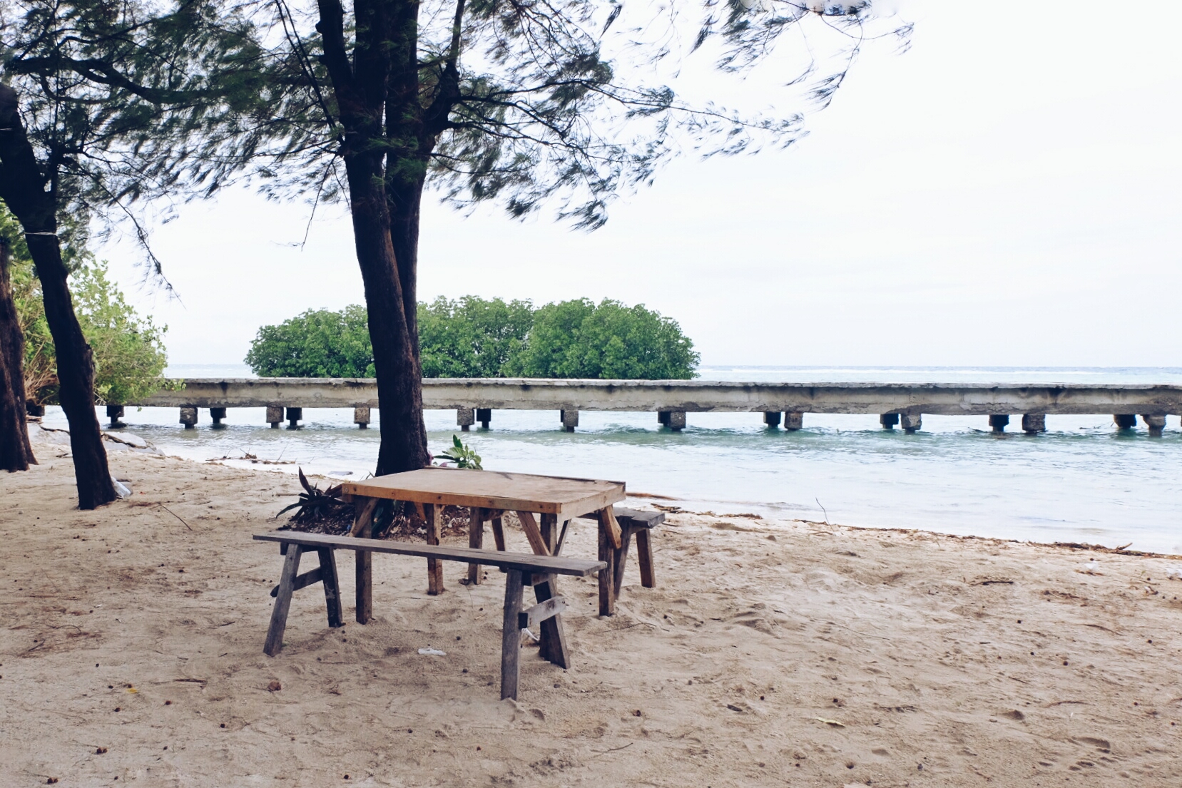
[[[342,493],[356,509],[351,535],[372,538],[375,510],[381,501],[407,501],[421,507],[427,521],[427,543],[439,545],[440,514],[444,506],[467,507],[472,515],[468,546],[483,546],[485,522],[492,523],[498,551],[505,551],[502,515],[515,512],[530,547],[535,555],[558,555],[566,529],[574,517],[593,515],[599,523],[599,614],[611,616],[616,607],[615,566],[624,547],[623,534],[612,508],[624,500],[624,482],[591,478],[566,478],[533,474],[507,474],[492,470],[423,468],[389,474],[357,482],[344,482]],[[537,516],[535,516],[537,515]],[[370,553],[357,551],[357,620],[365,624],[372,617],[372,569]],[[427,560],[427,593],[443,591],[442,561]],[[479,584],[481,568],[468,565],[468,582]],[[533,585],[538,603],[558,594],[557,578],[538,575]],[[540,624],[541,656],[561,667],[570,666],[561,619],[554,617]]]

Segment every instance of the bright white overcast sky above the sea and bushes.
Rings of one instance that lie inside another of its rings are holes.
[[[427,197],[420,299],[643,302],[706,364],[1182,364],[1182,4],[1151,5],[910,0],[911,51],[868,47],[801,143],[678,159],[596,233]],[[348,217],[300,250],[306,219],[183,207],[154,234],[181,304],[103,256],[171,363],[238,363],[363,300]]]

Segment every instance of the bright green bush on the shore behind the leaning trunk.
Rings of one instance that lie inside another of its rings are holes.
[[[53,337],[45,320],[41,284],[37,279],[24,233],[0,204],[0,235],[12,246],[13,300],[25,334],[25,396],[40,404],[57,399],[58,375]],[[69,247],[67,247],[69,249]],[[151,317],[141,318],[111,284],[106,263],[85,248],[69,249],[73,273],[70,289],[82,332],[95,353],[95,398],[128,403],[165,388],[168,363],[164,333]]]

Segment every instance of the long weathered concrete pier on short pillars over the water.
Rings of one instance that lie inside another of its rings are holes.
[[[124,405],[180,408],[181,423],[197,423],[207,408],[215,424],[229,408],[266,408],[272,426],[303,419],[304,408],[352,408],[364,428],[376,408],[372,378],[189,378],[183,386],[160,391],[134,403],[108,405],[112,423]],[[586,380],[538,378],[427,378],[423,408],[455,410],[462,429],[488,426],[493,410],[558,410],[573,431],[582,410],[650,411],[674,430],[686,413],[761,412],[765,423],[800,429],[805,413],[877,413],[884,428],[915,431],[923,413],[987,416],[994,430],[1011,416],[1022,429],[1040,432],[1047,415],[1111,413],[1121,428],[1141,416],[1151,432],[1161,432],[1168,415],[1182,413],[1177,385],[991,385],[967,383],[733,383],[725,380]]]

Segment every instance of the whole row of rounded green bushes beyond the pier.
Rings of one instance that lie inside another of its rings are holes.
[[[689,379],[699,354],[676,320],[604,299],[534,307],[466,295],[418,304],[428,378]],[[365,308],[310,310],[262,326],[246,363],[264,377],[374,377]]]

